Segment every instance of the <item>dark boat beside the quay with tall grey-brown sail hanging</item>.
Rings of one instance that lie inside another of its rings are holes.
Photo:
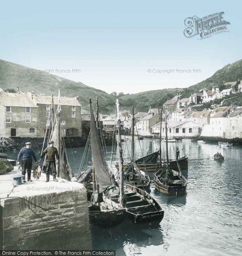
[[[108,166],[102,154],[100,138],[95,125],[94,114],[91,106],[91,154],[92,154],[92,177],[93,198],[89,206],[89,220],[97,227],[113,227],[120,224],[127,213],[123,207],[122,200],[112,204],[110,195],[114,190],[120,190],[112,179]]]

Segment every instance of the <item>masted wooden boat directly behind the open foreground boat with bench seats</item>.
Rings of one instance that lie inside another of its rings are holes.
[[[149,175],[144,171],[140,171],[134,161],[134,106],[132,109],[132,160],[131,163],[125,167],[123,175],[125,184],[138,187],[148,192],[150,191]],[[118,179],[120,179],[120,176],[118,176]]]

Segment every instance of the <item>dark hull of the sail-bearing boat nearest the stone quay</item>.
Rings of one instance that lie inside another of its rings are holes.
[[[108,210],[107,212],[89,208],[89,221],[97,227],[109,228],[120,224],[127,217],[125,209]]]

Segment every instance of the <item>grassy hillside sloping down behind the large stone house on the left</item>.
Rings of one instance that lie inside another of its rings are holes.
[[[99,107],[101,113],[115,113],[116,97],[105,93],[102,90],[88,87],[81,82],[74,82],[59,76],[48,73],[32,73],[25,67],[9,61],[0,60],[0,87],[3,90],[19,87],[20,91],[34,91],[36,94],[44,93],[46,95],[58,95],[58,89],[61,90],[61,96],[75,97],[79,96],[83,113],[89,113],[89,98],[95,102],[96,96],[99,97]],[[120,105],[124,103],[120,102]]]

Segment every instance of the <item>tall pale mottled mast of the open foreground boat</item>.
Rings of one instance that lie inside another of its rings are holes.
[[[124,207],[125,200],[124,200],[124,188],[123,188],[123,159],[122,159],[122,146],[121,146],[121,134],[120,134],[120,129],[121,129],[121,119],[120,119],[120,104],[119,100],[116,100],[116,109],[117,109],[117,123],[118,123],[118,143],[119,143],[119,153],[120,153],[120,158],[119,158],[119,167],[120,167],[120,198],[119,202],[122,207]]]

